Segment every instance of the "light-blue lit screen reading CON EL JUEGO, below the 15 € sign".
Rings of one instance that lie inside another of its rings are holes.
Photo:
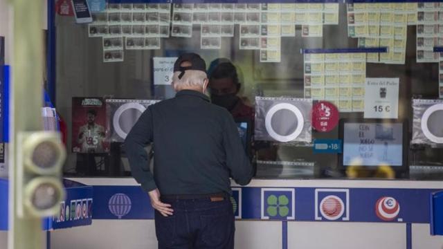
[[[403,165],[403,124],[345,123],[343,165]]]

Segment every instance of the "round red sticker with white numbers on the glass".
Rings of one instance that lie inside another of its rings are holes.
[[[312,107],[312,127],[316,131],[332,131],[338,124],[338,109],[331,102],[320,101]]]

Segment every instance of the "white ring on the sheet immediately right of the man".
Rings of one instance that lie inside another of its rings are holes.
[[[282,136],[282,135],[278,134],[277,132],[275,132],[275,130],[273,129],[272,124],[271,124],[272,117],[274,116],[274,114],[277,111],[280,111],[280,110],[291,111],[292,113],[294,113],[296,115],[296,118],[297,118],[296,130],[287,136]],[[275,104],[275,106],[271,107],[271,109],[269,109],[268,113],[266,113],[266,118],[264,119],[266,131],[268,132],[269,136],[271,136],[271,138],[273,138],[279,142],[289,142],[289,141],[295,140],[300,135],[300,133],[302,133],[304,123],[305,123],[305,119],[303,118],[303,115],[302,115],[302,112],[300,111],[300,109],[298,109],[293,104],[288,104],[288,103]]]

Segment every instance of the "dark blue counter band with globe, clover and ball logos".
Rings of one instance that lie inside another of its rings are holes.
[[[429,223],[436,190],[381,188],[235,187],[237,219]],[[153,219],[137,186],[94,186],[94,219]]]

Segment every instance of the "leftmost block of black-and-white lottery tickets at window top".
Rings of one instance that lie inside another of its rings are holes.
[[[160,49],[160,39],[170,37],[170,8],[170,3],[109,3],[104,12],[92,13],[88,33],[102,37],[103,62],[123,62],[123,47]]]

